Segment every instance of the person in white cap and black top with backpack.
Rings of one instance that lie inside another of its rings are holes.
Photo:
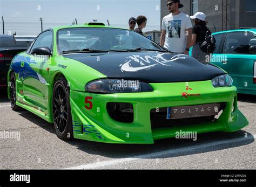
[[[205,21],[206,15],[203,12],[197,12],[194,16],[190,16],[191,19],[194,20],[194,26],[192,29],[192,57],[205,63],[206,58],[210,56],[210,54],[202,51],[200,49],[200,45],[205,40],[205,35],[207,31],[210,31],[207,28],[207,22]]]

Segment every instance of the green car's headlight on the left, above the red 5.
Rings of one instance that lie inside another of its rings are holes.
[[[112,94],[112,93],[131,93],[131,92],[152,92],[153,88],[138,80],[124,79],[99,79],[89,82],[85,86],[86,92]]]

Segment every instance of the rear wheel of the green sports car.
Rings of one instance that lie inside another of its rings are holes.
[[[12,72],[10,74],[10,102],[11,102],[11,109],[14,111],[21,110],[22,108],[16,105],[17,95],[16,95],[16,78],[15,73]]]

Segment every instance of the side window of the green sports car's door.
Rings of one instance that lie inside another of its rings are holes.
[[[46,31],[40,34],[40,36],[36,39],[35,43],[32,46],[32,49],[37,47],[49,47],[52,50],[52,32]]]

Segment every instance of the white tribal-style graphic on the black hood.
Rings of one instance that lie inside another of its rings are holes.
[[[170,63],[172,61],[187,58],[187,57],[182,57],[183,55],[178,54],[176,56],[173,56],[170,60],[166,60],[163,57],[164,54],[165,53],[158,53],[156,56],[152,56],[152,57],[147,55],[144,58],[140,57],[139,55],[129,56],[126,59],[130,59],[130,60],[126,60],[125,64],[120,64],[121,71],[122,72],[137,72],[140,70],[149,70],[150,68],[157,66],[157,65],[171,66],[171,65],[167,65],[166,63]],[[151,64],[151,65],[147,65],[145,63]],[[139,67],[138,67],[138,65],[139,65]]]

